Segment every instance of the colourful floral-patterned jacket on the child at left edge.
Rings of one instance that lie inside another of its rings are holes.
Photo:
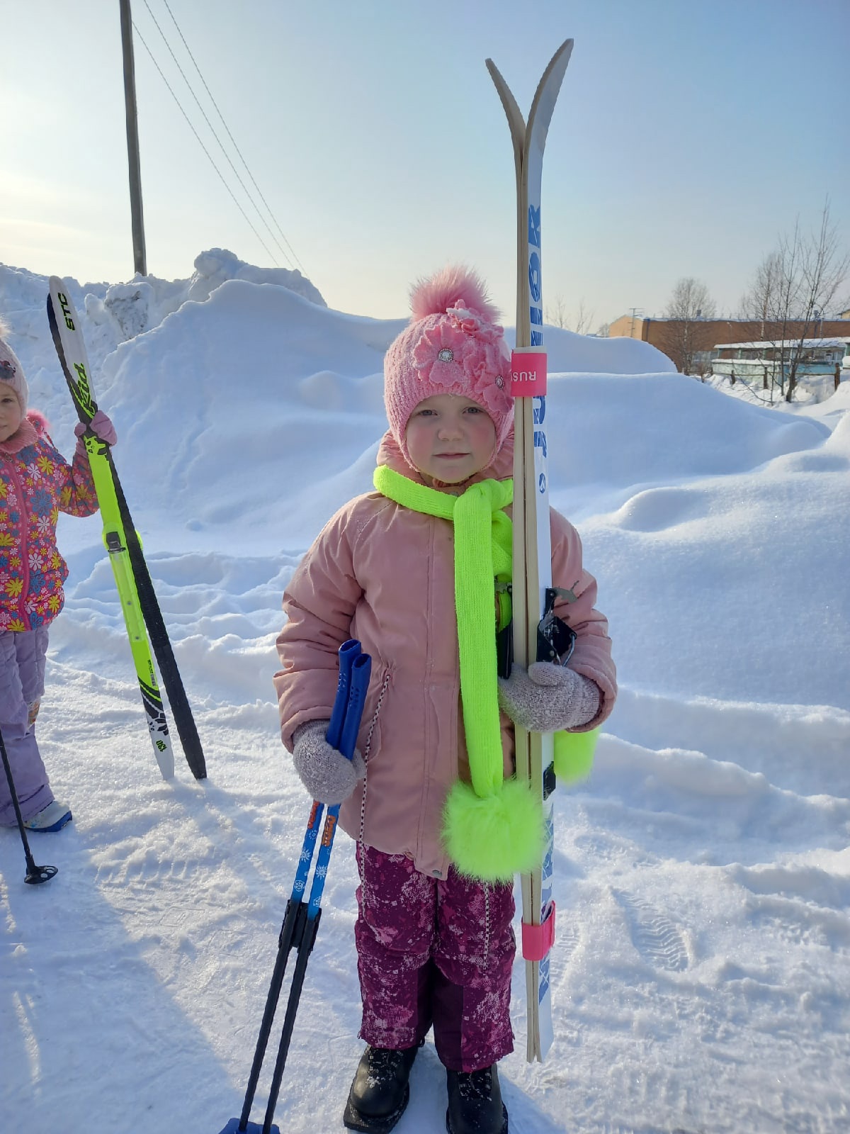
[[[32,631],[56,618],[68,577],[56,543],[59,513],[96,510],[82,445],[69,465],[48,437],[45,420],[31,411],[0,442],[0,632]]]

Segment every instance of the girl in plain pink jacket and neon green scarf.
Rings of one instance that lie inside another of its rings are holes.
[[[384,361],[390,430],[375,492],[320,533],[283,596],[275,675],[283,744],[311,795],[341,803],[360,885],[355,940],[367,1043],[343,1123],[386,1134],[433,1026],[450,1134],[507,1134],[496,1061],[509,1017],[513,874],[539,855],[539,804],[513,777],[513,722],[588,730],[617,695],[596,584],[551,513],[555,613],[569,666],[496,677],[511,569],[509,353],[481,280],[445,269],[413,293]],[[337,651],[372,680],[349,762],[325,739]]]

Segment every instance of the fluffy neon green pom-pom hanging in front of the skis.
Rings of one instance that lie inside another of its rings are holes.
[[[496,795],[479,798],[458,780],[443,810],[443,845],[461,874],[507,882],[543,858],[543,809],[527,784],[509,779]]]

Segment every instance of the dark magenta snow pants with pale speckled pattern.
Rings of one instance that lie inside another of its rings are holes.
[[[406,855],[363,844],[357,863],[360,1038],[410,1048],[433,1024],[451,1070],[490,1067],[512,1051],[512,886],[475,882],[453,868],[436,880]]]

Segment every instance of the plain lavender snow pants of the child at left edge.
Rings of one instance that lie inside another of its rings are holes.
[[[46,628],[0,631],[0,733],[25,821],[53,801],[35,741],[34,719],[44,692],[46,652]],[[0,764],[0,826],[14,827],[15,822],[9,782]]]

